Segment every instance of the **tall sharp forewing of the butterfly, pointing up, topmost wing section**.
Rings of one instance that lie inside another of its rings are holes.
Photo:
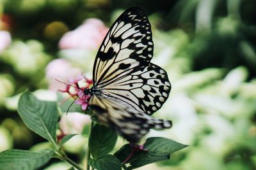
[[[140,8],[130,8],[117,18],[100,45],[93,66],[94,85],[101,88],[134,67],[147,65],[153,56],[150,23]]]

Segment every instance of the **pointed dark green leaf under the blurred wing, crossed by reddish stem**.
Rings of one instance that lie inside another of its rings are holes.
[[[129,169],[135,169],[153,162],[170,159],[170,154],[186,148],[188,145],[177,143],[167,138],[148,138],[144,148],[147,150],[139,151],[132,155],[132,157],[125,162],[130,163]],[[123,162],[128,155],[132,152],[131,145],[127,144],[122,146],[114,155]]]

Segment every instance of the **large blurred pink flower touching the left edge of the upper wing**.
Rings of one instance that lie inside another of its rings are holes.
[[[66,48],[86,48],[95,50],[108,32],[108,27],[96,18],[90,18],[77,27],[74,31],[69,31],[60,39],[59,47]]]

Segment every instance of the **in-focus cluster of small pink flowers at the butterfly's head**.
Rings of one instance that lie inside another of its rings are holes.
[[[88,108],[88,100],[90,95],[84,94],[84,89],[90,88],[92,85],[92,80],[86,78],[82,74],[79,74],[77,78],[69,78],[69,83],[66,85],[65,90],[60,90],[60,92],[67,92],[75,100],[74,103],[81,105],[82,110]]]

